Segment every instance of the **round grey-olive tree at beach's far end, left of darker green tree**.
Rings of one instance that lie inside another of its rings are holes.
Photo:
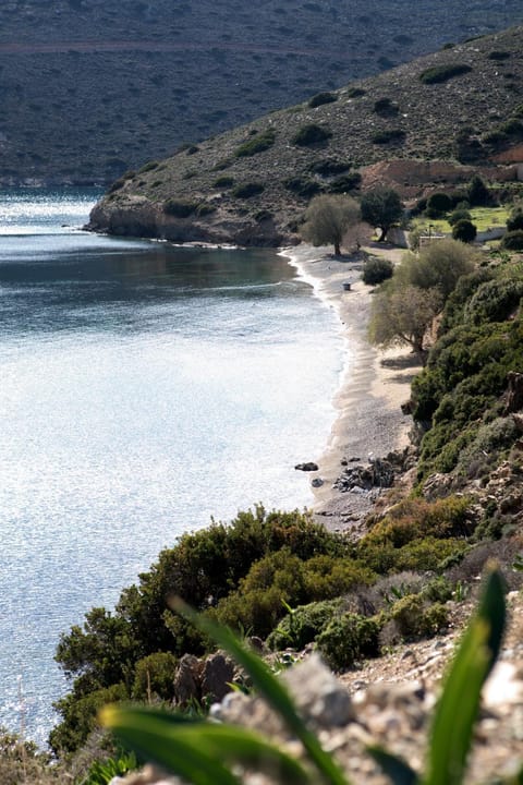
[[[300,233],[313,245],[333,243],[335,254],[339,256],[343,238],[361,219],[360,205],[352,196],[321,194],[311,201]]]

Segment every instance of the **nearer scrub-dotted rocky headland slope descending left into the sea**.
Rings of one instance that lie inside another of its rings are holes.
[[[295,239],[315,193],[388,179],[414,197],[477,169],[513,180],[523,159],[522,50],[523,27],[446,47],[150,161],[111,186],[90,227],[277,245]]]

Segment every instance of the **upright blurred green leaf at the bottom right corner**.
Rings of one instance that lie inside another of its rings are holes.
[[[463,781],[482,687],[498,656],[504,619],[502,579],[492,571],[436,709],[425,785],[460,785]]]

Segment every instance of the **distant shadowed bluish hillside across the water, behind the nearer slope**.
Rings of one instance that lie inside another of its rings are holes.
[[[516,0],[421,0],[415,15],[405,0],[254,11],[240,0],[7,0],[0,182],[110,182],[183,142],[522,22]]]

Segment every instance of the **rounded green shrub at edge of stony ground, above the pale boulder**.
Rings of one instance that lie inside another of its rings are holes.
[[[379,656],[379,632],[377,617],[348,613],[332,619],[316,643],[329,665],[342,671],[363,657]]]

